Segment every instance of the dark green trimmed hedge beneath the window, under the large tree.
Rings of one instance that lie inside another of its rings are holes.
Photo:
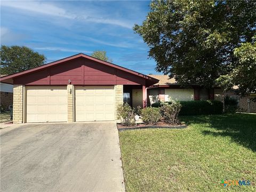
[[[222,114],[223,103],[217,100],[180,101],[180,115],[212,115]]]

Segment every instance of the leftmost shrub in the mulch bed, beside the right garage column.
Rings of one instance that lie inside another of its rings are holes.
[[[134,116],[134,110],[127,103],[124,103],[124,105],[120,105],[117,107],[117,117],[121,120],[122,125],[135,125]]]

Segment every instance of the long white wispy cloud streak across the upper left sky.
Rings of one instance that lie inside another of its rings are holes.
[[[50,4],[49,2],[37,2],[37,1],[2,1],[1,6],[11,7],[13,9],[24,10],[26,13],[34,12],[37,14],[44,14],[54,17],[62,17],[73,20],[81,20],[81,21],[89,21],[95,23],[109,24],[109,25],[117,25],[124,28],[132,28],[133,23],[124,20],[118,19],[107,19],[103,16],[101,17],[92,17],[91,15],[95,15],[90,13],[89,15],[85,15],[85,13],[78,15],[77,13],[71,13],[61,7]],[[92,10],[91,10],[92,11]]]

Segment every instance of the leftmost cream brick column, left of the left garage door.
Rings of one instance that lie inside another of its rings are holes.
[[[13,123],[23,123],[22,85],[13,85]]]

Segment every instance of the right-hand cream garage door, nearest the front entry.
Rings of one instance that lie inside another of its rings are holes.
[[[114,121],[114,86],[75,87],[76,121]]]

